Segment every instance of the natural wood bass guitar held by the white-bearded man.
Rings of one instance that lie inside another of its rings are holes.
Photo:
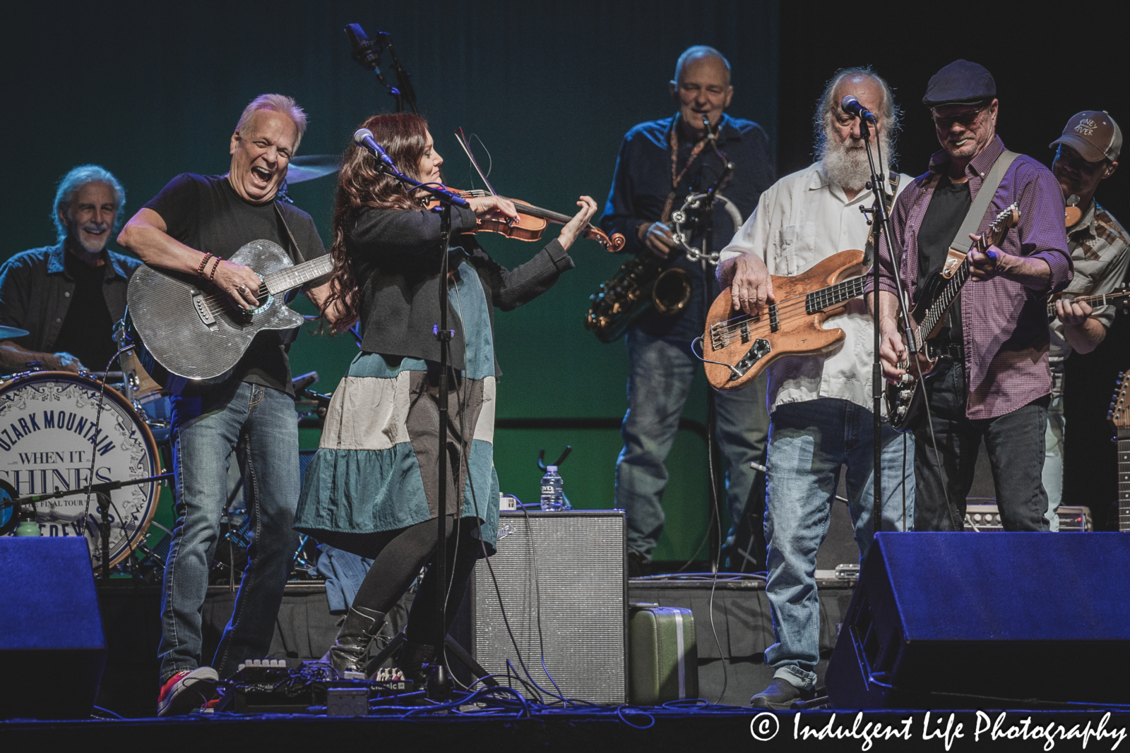
[[[776,301],[756,316],[734,314],[730,289],[723,290],[706,314],[706,379],[715,389],[740,389],[777,359],[834,349],[844,331],[825,330],[824,321],[863,295],[862,272],[863,252],[841,251],[794,277],[773,275]]]

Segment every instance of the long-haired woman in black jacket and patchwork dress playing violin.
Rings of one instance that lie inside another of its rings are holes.
[[[438,183],[443,158],[426,121],[377,115],[364,123],[411,177]],[[416,192],[423,193],[423,192]],[[307,472],[295,527],[374,562],[357,590],[330,658],[338,672],[359,672],[384,614],[420,568],[436,555],[438,531],[438,377],[441,217],[427,198],[406,193],[376,172],[373,157],[350,145],[338,176],[333,217],[334,271],[325,310],[337,329],[359,321],[360,352],[325,417],[321,446]],[[573,269],[567,249],[588,227],[596,202],[581,196],[576,216],[533,259],[507,270],[476,243],[477,219],[516,219],[498,196],[453,207],[455,236],[443,296],[454,330],[449,364],[447,551],[450,620],[478,557],[493,553],[498,522],[494,471],[494,308],[510,310],[538,297]],[[458,491],[457,491],[458,490]],[[462,509],[455,514],[454,510]],[[417,592],[401,649],[406,677],[420,680],[435,653],[434,568]]]

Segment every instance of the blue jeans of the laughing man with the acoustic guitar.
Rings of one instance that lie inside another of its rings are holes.
[[[234,393],[173,401],[176,527],[165,562],[160,605],[160,680],[202,663],[200,607],[227,501],[235,452],[250,515],[250,560],[214,666],[231,676],[241,662],[267,656],[298,534],[298,422],[285,393],[241,383]]]

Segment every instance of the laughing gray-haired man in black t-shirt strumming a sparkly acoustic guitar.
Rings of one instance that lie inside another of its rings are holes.
[[[305,130],[306,115],[294,99],[257,97],[232,134],[227,175],[176,176],[130,219],[118,242],[147,264],[194,274],[202,287],[214,286],[242,308],[254,309],[260,305],[259,275],[224,261],[241,246],[266,238],[294,262],[325,253],[310,214],[276,201]],[[325,283],[306,290],[319,307],[328,292]],[[185,713],[211,700],[218,678],[234,674],[242,662],[263,658],[270,648],[298,544],[292,528],[298,504],[298,423],[285,342],[277,333],[260,333],[231,378],[190,384],[173,400],[177,520],[160,607],[160,716]],[[200,607],[233,452],[245,481],[253,542],[212,668],[202,666]]]

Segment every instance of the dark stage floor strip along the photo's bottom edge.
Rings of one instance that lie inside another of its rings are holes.
[[[162,751],[1112,751],[1125,750],[1130,713],[1087,711],[800,711],[610,708],[527,717],[412,718],[218,713],[174,719],[0,723],[6,750],[113,750],[147,741]],[[1049,737],[1051,739],[1049,739]],[[127,741],[132,741],[127,743]],[[66,747],[64,747],[66,746]]]

